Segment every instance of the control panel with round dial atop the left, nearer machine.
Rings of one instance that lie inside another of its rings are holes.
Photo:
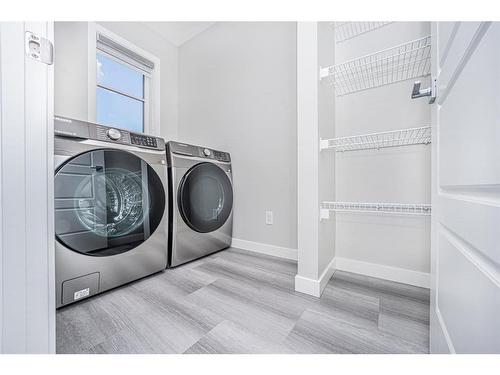
[[[95,139],[153,150],[165,150],[163,138],[61,116],[54,117],[54,133],[60,137]]]

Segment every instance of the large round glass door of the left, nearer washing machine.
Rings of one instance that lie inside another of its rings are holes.
[[[55,231],[66,247],[93,256],[124,253],[160,224],[165,192],[156,172],[125,151],[95,150],[56,172]]]

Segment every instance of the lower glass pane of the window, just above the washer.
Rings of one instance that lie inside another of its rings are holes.
[[[97,87],[97,122],[133,132],[144,131],[144,102]]]

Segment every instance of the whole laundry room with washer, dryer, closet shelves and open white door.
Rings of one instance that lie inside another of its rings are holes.
[[[500,353],[499,39],[0,22],[0,352]]]

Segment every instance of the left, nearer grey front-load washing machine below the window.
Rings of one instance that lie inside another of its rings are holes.
[[[167,266],[165,141],[56,116],[57,307]]]

